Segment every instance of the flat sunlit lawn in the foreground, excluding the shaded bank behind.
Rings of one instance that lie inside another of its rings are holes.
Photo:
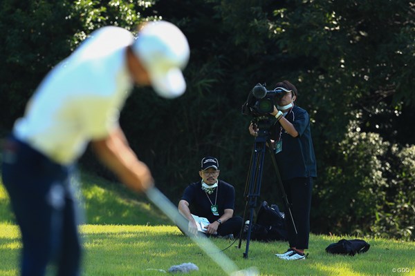
[[[91,225],[80,226],[84,241],[84,275],[158,275],[159,270],[192,262],[199,271],[192,275],[223,275],[191,239],[175,226]],[[0,224],[0,275],[18,275],[21,249],[19,229]],[[311,235],[308,259],[286,262],[275,257],[284,252],[286,242],[251,241],[248,259],[243,258],[246,242],[212,239],[239,268],[255,266],[261,275],[393,275],[398,268],[407,268],[415,275],[415,243],[389,239],[365,239],[371,248],[360,255],[329,255],[326,246],[342,237]],[[353,237],[345,237],[353,238]],[[355,237],[356,238],[356,237]]]

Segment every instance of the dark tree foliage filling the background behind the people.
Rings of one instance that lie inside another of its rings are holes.
[[[256,83],[289,79],[312,120],[312,230],[414,239],[414,13],[408,0],[3,0],[0,127],[93,30],[165,19],[189,39],[187,92],[166,100],[137,88],[121,124],[172,200],[215,155],[242,215],[254,141],[241,105]],[[112,177],[89,152],[82,166]],[[280,201],[275,181],[268,158],[258,201]]]

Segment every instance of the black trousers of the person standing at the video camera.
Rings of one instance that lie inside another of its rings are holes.
[[[297,235],[286,212],[286,227],[288,230],[288,242],[290,247],[297,249],[308,248],[308,237],[310,235],[310,209],[311,209],[311,190],[313,188],[312,177],[298,177],[283,181],[288,202],[291,206]]]

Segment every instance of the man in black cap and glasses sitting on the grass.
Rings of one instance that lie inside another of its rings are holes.
[[[201,181],[185,188],[179,212],[189,221],[189,232],[197,235],[198,228],[193,215],[205,217],[209,224],[204,227],[206,235],[214,237],[238,237],[243,219],[233,217],[235,189],[225,181],[218,180],[219,162],[214,157],[205,157],[201,161],[199,175]]]

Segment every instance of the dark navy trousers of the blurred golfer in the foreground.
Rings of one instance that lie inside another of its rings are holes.
[[[80,275],[72,169],[14,137],[6,140],[2,177],[21,230],[23,276],[45,275],[48,264],[57,264],[57,275]]]

